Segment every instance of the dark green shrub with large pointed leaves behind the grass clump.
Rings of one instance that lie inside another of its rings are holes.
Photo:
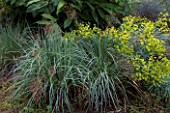
[[[3,2],[14,16],[25,17],[32,14],[33,17],[40,19],[41,14],[47,13],[56,18],[63,28],[77,27],[78,22],[82,21],[95,23],[100,27],[120,24],[121,18],[128,14],[127,0],[3,0]]]

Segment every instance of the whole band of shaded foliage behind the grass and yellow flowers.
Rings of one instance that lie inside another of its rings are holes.
[[[75,29],[85,21],[100,28],[118,27],[129,14],[155,21],[160,12],[170,12],[169,0],[1,0],[0,3],[3,7],[0,12],[12,15],[14,20],[27,20],[29,24],[58,23],[63,30]]]

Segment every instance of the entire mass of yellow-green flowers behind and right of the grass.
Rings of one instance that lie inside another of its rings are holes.
[[[104,31],[96,26],[91,28],[89,23],[82,23],[78,30],[67,33],[65,37],[107,38],[113,42],[112,47],[117,52],[132,56],[131,63],[138,80],[153,84],[162,83],[164,77],[170,76],[170,60],[164,55],[166,53],[164,40],[155,34],[170,38],[170,29],[165,17],[167,14],[153,22],[146,18],[127,16],[119,28],[111,27]]]

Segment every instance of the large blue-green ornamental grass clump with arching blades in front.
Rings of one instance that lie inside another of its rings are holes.
[[[51,32],[40,42],[32,40],[18,58],[14,97],[28,99],[27,108],[104,112],[128,101],[122,82],[128,78],[122,73],[128,64],[121,65],[123,55],[115,51],[112,39],[100,37],[98,28],[82,29],[86,31],[63,37],[53,25]]]

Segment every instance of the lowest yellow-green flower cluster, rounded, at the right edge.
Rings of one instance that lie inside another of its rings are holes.
[[[138,80],[145,80],[153,84],[163,83],[163,78],[170,74],[170,60],[166,57],[151,56],[148,61],[145,61],[140,56],[136,56],[133,60],[133,66]]]

